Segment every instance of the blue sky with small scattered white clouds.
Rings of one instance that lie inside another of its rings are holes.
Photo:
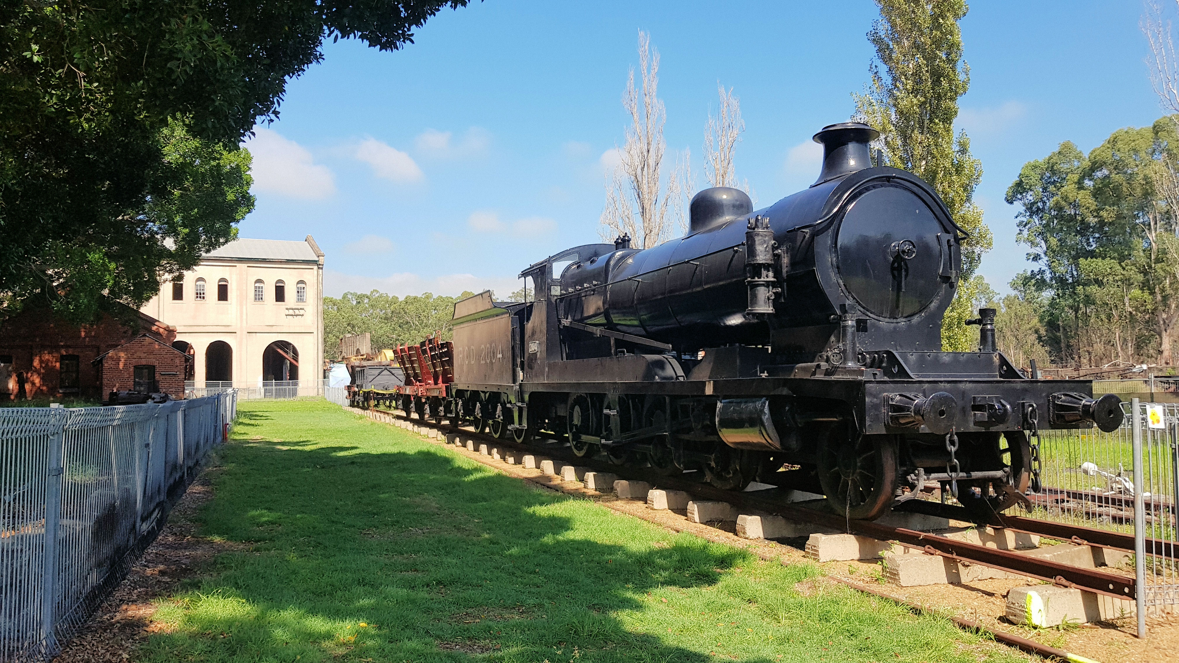
[[[974,2],[962,21],[970,91],[959,124],[982,160],[976,201],[995,236],[996,289],[1027,268],[1015,209],[1023,163],[1082,150],[1160,114],[1135,0]],[[519,285],[527,264],[598,241],[604,155],[624,142],[620,97],[638,31],[660,53],[670,168],[703,142],[717,81],[740,98],[737,176],[758,206],[814,182],[810,137],[847,120],[868,80],[868,0],[487,0],[443,11],[403,51],[324,48],[259,129],[257,209],[242,237],[314,235],[325,293],[396,295]]]

